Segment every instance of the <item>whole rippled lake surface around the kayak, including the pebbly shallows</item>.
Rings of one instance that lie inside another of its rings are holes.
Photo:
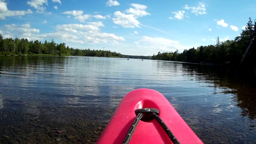
[[[161,92],[204,143],[256,144],[256,90],[213,67],[50,56],[0,56],[0,143],[93,144],[137,88]]]

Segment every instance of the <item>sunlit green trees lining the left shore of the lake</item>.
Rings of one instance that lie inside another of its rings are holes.
[[[99,57],[117,57],[124,58],[124,55],[111,52],[110,50],[80,50],[78,48],[66,47],[65,43],[56,44],[52,39],[51,42],[38,40],[28,41],[28,39],[6,38],[3,39],[0,34],[0,55],[36,55],[36,56],[99,56]]]

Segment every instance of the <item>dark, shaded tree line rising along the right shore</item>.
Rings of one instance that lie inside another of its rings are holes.
[[[192,62],[210,65],[228,65],[238,75],[256,76],[256,20],[249,18],[246,28],[234,40],[220,42],[217,37],[216,44],[199,46],[184,50],[182,53],[158,52],[153,60],[169,60],[179,62]]]

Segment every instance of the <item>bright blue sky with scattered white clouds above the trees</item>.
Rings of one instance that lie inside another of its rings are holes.
[[[0,33],[152,56],[232,40],[255,14],[255,0],[0,0]]]

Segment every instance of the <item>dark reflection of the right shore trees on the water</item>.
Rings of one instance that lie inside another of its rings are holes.
[[[220,113],[222,110],[227,110],[232,112],[234,105],[242,108],[241,115],[248,116],[251,120],[256,118],[256,90],[249,86],[243,86],[242,84],[234,81],[231,78],[228,78],[226,75],[228,70],[225,68],[219,69],[219,67],[214,66],[202,66],[196,64],[182,64],[183,66],[183,76],[194,77],[194,80],[199,82],[200,86],[209,86],[207,83],[212,84],[214,88],[213,92],[215,97],[220,97],[223,95],[226,96],[223,100],[229,100],[229,98],[236,104],[231,103],[229,106],[226,106],[226,109],[221,106],[220,103],[215,103],[214,113]],[[193,78],[190,78],[191,80]],[[203,82],[203,83],[202,83]],[[222,101],[223,101],[222,100]]]

